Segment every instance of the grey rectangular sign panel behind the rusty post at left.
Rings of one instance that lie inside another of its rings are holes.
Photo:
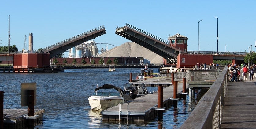
[[[35,90],[36,105],[36,83],[21,83],[21,106],[28,106],[28,90]]]

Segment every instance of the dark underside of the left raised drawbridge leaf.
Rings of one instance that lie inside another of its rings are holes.
[[[105,30],[105,28],[103,28],[101,30],[91,32],[90,34],[87,34],[87,35],[81,36],[79,38],[76,38],[75,40],[65,42],[64,44],[60,44],[60,45],[57,45],[57,46],[53,45],[53,48],[48,49],[48,52],[50,53],[50,58],[52,58],[52,57],[54,57],[58,54],[61,54],[61,53],[65,52],[66,50],[71,49],[71,48],[73,48],[73,47],[75,47],[75,46],[77,46],[77,45],[79,45],[83,42],[86,42],[88,40],[91,40],[91,39],[94,39],[98,36],[101,36],[105,33],[106,33],[106,30]]]

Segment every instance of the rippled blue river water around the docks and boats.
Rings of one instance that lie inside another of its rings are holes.
[[[133,79],[141,68],[120,68],[115,72],[108,69],[66,69],[61,73],[23,73],[0,74],[0,91],[4,91],[4,108],[28,108],[20,106],[20,87],[23,82],[36,82],[36,106],[45,109],[43,123],[38,129],[59,128],[179,128],[194,109],[200,96],[206,91],[196,90],[195,99],[178,101],[178,108],[170,107],[163,113],[163,120],[142,123],[103,123],[98,111],[92,111],[88,97],[96,85],[112,84],[124,88],[130,72]],[[158,72],[158,68],[153,69]],[[147,87],[149,92],[157,87]]]

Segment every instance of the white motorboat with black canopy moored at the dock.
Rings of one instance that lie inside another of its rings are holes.
[[[118,92],[97,92],[103,89],[114,89]],[[127,100],[124,99],[123,90],[120,87],[114,85],[104,84],[102,87],[97,87],[91,97],[88,98],[89,104],[92,110],[102,111],[109,107],[116,106],[119,103],[124,103]]]

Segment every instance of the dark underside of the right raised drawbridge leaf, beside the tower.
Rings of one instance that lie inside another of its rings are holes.
[[[167,59],[169,63],[177,63],[177,55],[179,54],[179,51],[171,48],[168,44],[161,43],[147,35],[126,27],[117,29],[116,34],[149,49],[159,56],[162,56]]]

